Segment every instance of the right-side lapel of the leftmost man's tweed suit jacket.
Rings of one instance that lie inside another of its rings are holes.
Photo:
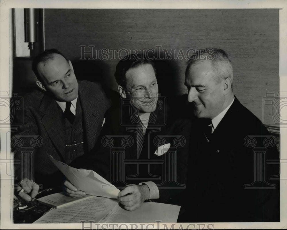
[[[100,108],[100,103],[98,100],[91,100],[91,96],[89,95],[85,87],[79,83],[79,99],[82,107],[82,119],[83,119],[83,128],[84,133],[86,134],[85,141],[87,142],[88,151],[90,151],[94,146],[95,138],[88,137],[96,137],[98,130],[98,116]],[[92,139],[92,140],[91,140]]]

